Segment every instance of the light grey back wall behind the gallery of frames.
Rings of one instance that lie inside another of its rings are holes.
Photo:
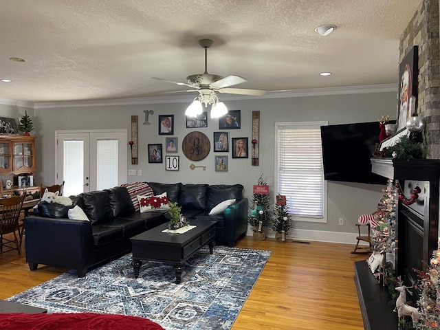
[[[271,186],[274,194],[274,126],[276,122],[303,122],[327,120],[329,124],[345,124],[351,122],[376,121],[384,113],[389,113],[394,119],[396,115],[396,92],[373,94],[347,94],[330,96],[304,96],[295,98],[275,98],[258,100],[232,100],[225,102],[231,110],[241,110],[241,129],[230,130],[231,137],[250,137],[252,111],[261,111],[260,129],[260,166],[252,166],[251,159],[232,159],[228,153],[228,172],[214,171],[214,155],[223,153],[209,153],[208,157],[200,162],[193,162],[181,153],[181,142],[190,131],[201,131],[212,142],[214,131],[219,131],[217,120],[208,120],[207,128],[186,129],[184,111],[186,103],[142,104],[142,105],[111,105],[96,107],[59,107],[35,109],[33,118],[37,135],[36,179],[45,184],[54,183],[54,132],[63,129],[127,129],[130,132],[131,115],[139,116],[138,145],[139,164],[131,165],[129,169],[142,169],[142,176],[128,177],[127,181],[160,181],[164,183],[208,183],[234,184],[240,183],[245,187],[245,196],[252,197],[252,186],[263,173],[263,177]],[[149,116],[150,126],[143,125],[144,110],[153,110]],[[0,106],[0,115],[2,115]],[[29,111],[28,111],[29,112]],[[170,155],[180,156],[179,171],[166,171],[165,164],[148,164],[147,144],[165,144],[165,137],[158,135],[158,115],[175,115],[173,136],[179,140],[179,153]],[[131,140],[129,135],[129,140]],[[129,148],[129,146],[127,146]],[[211,148],[212,150],[212,148]],[[340,151],[340,157],[349,157],[349,151]],[[190,170],[194,163],[197,166],[206,166]],[[354,243],[356,228],[360,214],[375,210],[382,186],[353,184],[344,182],[329,182],[328,184],[328,223],[294,223],[299,237],[324,241],[347,241]],[[345,224],[338,225],[338,218],[344,218]],[[318,236],[316,236],[318,231]],[[350,233],[347,235],[339,234]]]

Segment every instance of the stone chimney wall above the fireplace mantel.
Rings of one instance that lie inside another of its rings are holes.
[[[440,159],[439,0],[422,0],[400,38],[399,63],[412,46],[419,47],[417,113],[425,121],[428,159]]]

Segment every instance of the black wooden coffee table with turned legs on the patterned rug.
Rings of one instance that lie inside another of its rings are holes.
[[[212,254],[215,244],[215,223],[216,221],[191,220],[190,225],[195,225],[196,228],[184,234],[162,232],[168,228],[168,223],[164,223],[133,236],[130,240],[135,278],[139,277],[143,260],[162,261],[174,265],[176,283],[181,283],[181,273],[184,270],[186,259],[207,244],[209,244],[209,252]]]

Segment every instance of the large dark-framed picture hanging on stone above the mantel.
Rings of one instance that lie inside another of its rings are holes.
[[[417,109],[417,76],[419,47],[413,46],[399,64],[399,100],[397,104],[397,131],[406,127],[406,120]]]

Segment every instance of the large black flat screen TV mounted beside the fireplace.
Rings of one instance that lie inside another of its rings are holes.
[[[385,177],[371,172],[370,158],[379,143],[379,133],[378,122],[321,126],[324,178],[328,181],[386,184]]]

